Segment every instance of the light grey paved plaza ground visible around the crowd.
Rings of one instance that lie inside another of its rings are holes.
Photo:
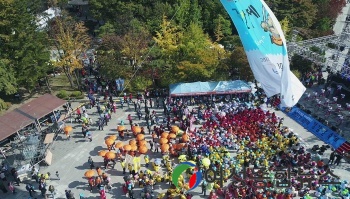
[[[79,103],[75,102],[72,104],[73,107],[78,107]],[[144,109],[142,109],[144,110]],[[162,121],[163,116],[163,109],[152,109],[151,112],[155,110],[160,116],[160,121]],[[97,121],[98,114],[96,108],[88,109],[87,110],[90,117],[93,121]],[[290,127],[293,129],[293,132],[296,133],[300,139],[302,140],[302,143],[305,144],[307,147],[312,147],[313,145],[322,145],[324,144],[322,141],[320,141],[318,138],[316,138],[314,135],[312,135],[310,132],[307,132],[302,126],[297,124],[292,119],[288,118],[284,113],[280,111],[276,111],[277,115],[279,117],[284,117],[284,125]],[[92,142],[89,142],[87,139],[83,138],[81,133],[81,124],[77,123],[70,123],[69,120],[66,121],[67,125],[71,125],[73,127],[73,133],[71,134],[72,137],[70,140],[66,140],[66,136],[64,134],[58,135],[57,140],[53,143],[51,147],[51,152],[53,153],[53,159],[52,159],[52,165],[51,166],[43,166],[40,168],[40,173],[46,173],[50,172],[52,174],[51,179],[47,181],[47,187],[49,185],[53,185],[56,189],[56,195],[55,198],[66,198],[65,197],[65,190],[72,190],[74,193],[75,198],[79,198],[79,195],[82,194],[87,199],[93,199],[93,198],[100,198],[98,190],[94,189],[93,192],[90,193],[88,188],[88,182],[87,179],[84,177],[84,173],[89,169],[89,164],[87,162],[88,157],[91,156],[92,159],[95,162],[95,166],[102,166],[103,165],[103,158],[98,156],[98,151],[107,149],[106,145],[104,143],[104,140],[109,135],[117,135],[118,132],[116,131],[117,125],[123,120],[125,122],[125,126],[130,129],[130,125],[128,125],[127,121],[127,115],[131,114],[134,118],[134,123],[139,124],[140,126],[145,126],[144,120],[138,120],[136,118],[134,107],[130,106],[130,108],[125,107],[123,109],[120,108],[120,106],[117,109],[116,113],[112,114],[112,119],[108,123],[107,126],[104,127],[104,130],[99,131],[97,125],[92,125],[90,130],[92,132]],[[146,128],[145,128],[146,129]],[[146,140],[151,139],[151,135],[148,134],[146,130]],[[125,142],[128,142],[133,137],[127,138]],[[328,159],[330,150],[328,150],[324,157]],[[160,153],[152,153],[148,152],[150,154],[151,162],[152,159],[155,157],[161,157]],[[143,157],[141,156],[141,165],[142,170],[145,169],[144,167],[144,161]],[[102,166],[103,168],[103,166]],[[349,164],[343,160],[340,166],[332,166],[334,169],[334,174],[337,176],[341,176],[342,179],[346,179],[350,181],[350,167]],[[152,170],[152,168],[150,168]],[[58,171],[60,175],[60,180],[56,178],[54,173]],[[122,192],[122,185],[124,184],[123,180],[123,174],[121,169],[120,162],[117,162],[115,169],[107,169],[104,170],[105,173],[107,173],[111,177],[111,184],[112,184],[112,191],[110,193],[107,193],[108,199],[121,199],[126,198],[125,194]],[[25,181],[29,182],[29,181]],[[38,190],[38,184],[34,181],[31,181],[31,183],[34,185],[37,192],[34,194],[33,198],[44,198],[40,195],[40,191]],[[169,185],[165,185],[165,183],[161,183],[162,185],[155,185],[155,196],[157,196],[157,193],[164,193],[166,192]],[[135,198],[140,198],[140,188],[136,185],[135,191]],[[11,193],[3,194],[0,193],[0,199],[27,199],[29,198],[29,193],[25,190],[25,185],[22,183],[17,188],[17,193],[15,195]],[[194,191],[191,191],[191,193],[194,195],[194,199],[196,198],[206,198],[201,193],[201,189],[197,187]],[[47,196],[47,198],[52,198],[51,196]]]

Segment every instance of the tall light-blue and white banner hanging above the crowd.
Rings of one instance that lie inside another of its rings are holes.
[[[266,95],[292,107],[306,88],[290,71],[280,23],[263,0],[220,0],[236,26],[254,77]]]

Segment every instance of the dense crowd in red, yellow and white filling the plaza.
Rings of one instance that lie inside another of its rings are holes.
[[[126,120],[130,131],[119,131],[119,138],[125,141],[148,132],[152,136],[147,146],[152,152],[161,152],[158,159],[143,155],[145,165],[136,166],[130,160],[127,162],[130,150],[109,148],[118,155],[116,159],[107,160],[105,166],[110,161],[113,167],[120,162],[125,175],[123,191],[128,197],[137,198],[134,188],[140,187],[141,198],[145,199],[191,198],[195,193],[191,193],[187,185],[190,176],[195,172],[205,173],[208,169],[214,171],[208,175],[212,180],[204,180],[201,188],[202,194],[206,196],[208,192],[210,199],[349,197],[347,182],[341,181],[330,169],[331,164],[340,164],[343,154],[333,151],[328,160],[323,153],[331,150],[329,146],[307,149],[290,128],[283,126],[283,118],[267,110],[264,97],[239,94],[228,101],[212,99],[194,101],[192,98],[169,97],[152,101],[146,97],[135,100],[132,96],[120,99],[120,103],[134,106],[135,116],[128,115]],[[103,115],[99,121],[108,122],[116,102],[107,100],[102,105],[92,98],[90,100],[91,105],[95,105],[99,114]],[[159,115],[151,111],[151,108],[156,108],[155,102],[163,106],[163,120],[156,119]],[[143,114],[148,131],[142,127],[140,132],[135,133],[132,129],[138,125],[134,118],[140,120]],[[126,126],[124,121],[120,125]],[[175,125],[179,130],[174,131]],[[168,132],[175,136],[170,136]],[[163,139],[167,141],[162,143]],[[163,147],[165,145],[167,147]],[[134,152],[131,157],[140,157],[140,153]],[[203,160],[206,160],[205,164]],[[189,169],[188,175],[180,180],[180,186],[175,186],[171,181],[172,171],[183,161],[193,162],[198,170]],[[220,174],[224,184],[215,179]],[[98,179],[89,179],[90,187],[93,187],[92,184],[100,187],[102,182],[108,184],[106,179],[108,177],[103,177],[101,173]],[[96,180],[101,183],[96,183]],[[170,186],[166,192],[159,193],[155,188],[157,184]],[[158,196],[156,193],[159,193]]]

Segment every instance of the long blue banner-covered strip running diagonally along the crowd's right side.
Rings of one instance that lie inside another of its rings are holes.
[[[290,118],[298,122],[320,140],[338,149],[346,140],[331,130],[329,127],[323,125],[321,122],[315,120],[311,115],[305,113],[297,107],[291,109],[282,109]]]

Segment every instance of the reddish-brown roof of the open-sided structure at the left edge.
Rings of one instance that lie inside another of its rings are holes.
[[[64,105],[66,101],[45,94],[0,116],[0,140],[3,140]]]

